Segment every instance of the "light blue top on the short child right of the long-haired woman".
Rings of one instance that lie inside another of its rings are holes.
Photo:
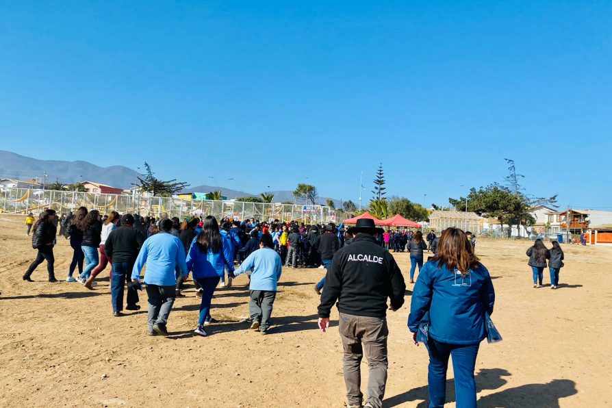
[[[251,270],[251,283],[248,285],[250,290],[277,290],[277,282],[281,279],[283,264],[281,255],[272,248],[261,248],[248,255],[242,265],[235,270],[234,275]]]

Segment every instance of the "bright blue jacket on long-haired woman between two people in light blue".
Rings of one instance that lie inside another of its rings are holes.
[[[222,238],[221,251],[214,253],[212,249],[208,253],[203,253],[197,244],[198,238],[194,238],[187,253],[187,270],[193,271],[194,279],[214,278],[223,276],[225,266],[233,271],[233,244]]]

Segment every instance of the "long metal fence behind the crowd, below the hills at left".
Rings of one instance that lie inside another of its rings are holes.
[[[101,194],[73,191],[31,190],[1,188],[0,211],[8,214],[38,214],[45,208],[67,213],[78,207],[98,209],[103,214],[116,211],[142,216],[168,216],[183,219],[186,216],[208,216],[235,220],[298,220],[303,222],[337,222],[337,214],[324,205],[297,205],[281,203],[244,203],[241,201],[185,200],[173,197],[154,197],[144,194]]]

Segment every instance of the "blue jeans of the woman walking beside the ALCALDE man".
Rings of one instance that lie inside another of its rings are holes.
[[[474,366],[479,343],[448,344],[429,338],[429,408],[442,408],[446,400],[446,369],[448,357],[452,355],[452,370],[455,372],[455,395],[457,407],[476,408],[476,381]]]

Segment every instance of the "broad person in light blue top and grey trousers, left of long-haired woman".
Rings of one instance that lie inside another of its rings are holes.
[[[160,232],[142,244],[131,272],[132,281],[140,283],[140,271],[146,264],[144,283],[149,302],[149,335],[168,335],[166,324],[176,298],[176,268],[187,276],[183,244],[170,233],[172,220],[166,218],[160,224]]]

